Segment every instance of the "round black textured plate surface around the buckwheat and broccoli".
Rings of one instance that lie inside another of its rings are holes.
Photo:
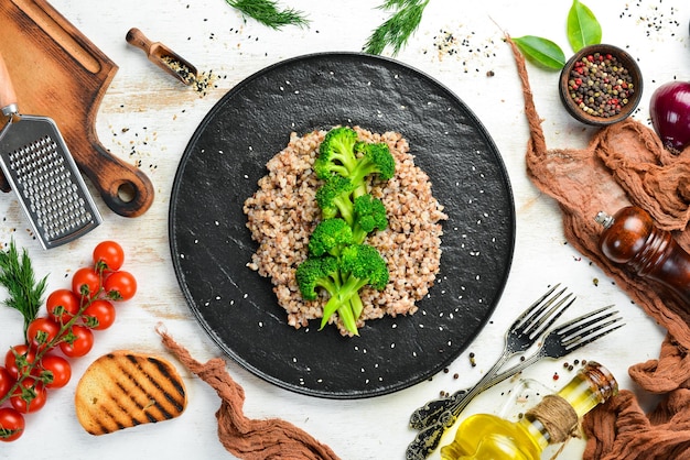
[[[242,204],[266,163],[291,131],[336,124],[401,132],[450,216],[441,273],[419,311],[368,321],[357,338],[317,321],[288,326],[269,281],[246,266],[256,244]],[[184,296],[225,353],[281,387],[358,398],[432,376],[474,339],[508,276],[515,209],[496,146],[449,89],[392,59],[313,54],[258,72],[208,112],[175,176],[170,243]]]

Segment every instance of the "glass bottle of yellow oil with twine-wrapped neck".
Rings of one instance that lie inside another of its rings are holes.
[[[611,372],[589,362],[557,394],[545,396],[517,423],[489,414],[467,417],[453,442],[441,449],[441,458],[539,460],[547,446],[565,441],[580,417],[617,391]]]

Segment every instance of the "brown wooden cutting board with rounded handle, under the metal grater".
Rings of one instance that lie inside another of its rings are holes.
[[[96,114],[117,65],[45,0],[0,1],[0,54],[20,113],[57,123],[79,169],[108,207],[126,217],[149,209],[149,178],[108,153],[96,135]],[[10,190],[4,177],[0,188]]]

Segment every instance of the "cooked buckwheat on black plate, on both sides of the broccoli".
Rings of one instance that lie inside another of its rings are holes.
[[[367,238],[367,243],[387,261],[390,281],[381,292],[368,286],[359,292],[365,306],[357,320],[359,328],[368,319],[417,311],[416,302],[428,294],[440,269],[441,222],[448,216],[431,193],[429,177],[414,165],[408,142],[400,133],[354,129],[359,140],[387,143],[396,160],[395,176],[386,182],[375,180],[371,188],[371,195],[386,206],[388,228]],[[327,300],[325,292],[316,300],[304,300],[294,276],[308,256],[310,236],[321,219],[314,196],[322,180],[313,174],[312,166],[325,134],[326,131],[303,136],[292,133],[288,146],[267,163],[268,174],[244,206],[247,227],[259,243],[247,266],[271,280],[278,303],[288,311],[288,324],[298,329],[321,318]],[[336,314],[328,322],[335,322],[342,335],[348,335]]]

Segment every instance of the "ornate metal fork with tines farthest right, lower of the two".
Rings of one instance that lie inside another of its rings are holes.
[[[520,360],[514,366],[487,380],[479,391],[490,388],[504,380],[521,372],[542,358],[563,358],[574,350],[623,327],[624,324],[618,324],[623,318],[616,316],[618,310],[611,311],[611,308],[613,308],[613,305],[587,313],[549,331],[533,354]],[[461,397],[465,397],[471,390],[472,388],[459,390],[452,395],[430,401],[423,407],[412,413],[410,427],[422,430],[433,425],[441,414],[452,408],[452,406],[456,404]]]

